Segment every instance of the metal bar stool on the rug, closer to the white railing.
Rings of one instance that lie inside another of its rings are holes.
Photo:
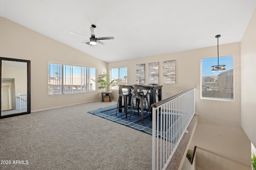
[[[134,103],[133,100],[136,99],[136,102],[138,102],[138,114],[139,114],[139,109],[141,110],[141,118],[142,118],[142,123],[143,123],[143,114],[144,114],[144,110],[146,110],[146,104],[144,104],[144,99],[146,99],[146,102],[148,104],[148,111],[150,114],[150,106],[148,103],[148,91],[149,88],[142,86],[142,85],[133,85],[132,86],[134,89],[134,95],[132,95],[132,103],[131,103],[131,111],[130,111],[130,119],[131,119],[131,115],[132,115],[132,108],[134,110]],[[141,93],[141,90],[146,90],[146,94],[144,95],[143,93]],[[145,107],[144,107],[145,106]],[[134,110],[135,113],[135,110]]]

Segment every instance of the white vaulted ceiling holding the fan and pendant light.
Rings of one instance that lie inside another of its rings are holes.
[[[240,42],[256,0],[0,0],[0,16],[106,62]],[[81,43],[96,37],[106,45]]]

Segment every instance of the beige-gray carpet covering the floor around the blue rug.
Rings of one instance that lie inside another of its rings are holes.
[[[0,160],[11,162],[0,169],[150,170],[151,135],[87,113],[116,103],[0,119]]]

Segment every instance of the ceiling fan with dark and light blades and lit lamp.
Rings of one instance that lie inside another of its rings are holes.
[[[92,24],[92,26],[90,27],[90,32],[91,32],[91,37],[86,37],[80,34],[76,34],[74,32],[70,32],[70,34],[75,34],[84,38],[89,38],[89,40],[86,40],[82,43],[87,43],[88,45],[96,45],[97,43],[101,43],[102,45],[105,45],[103,42],[99,41],[99,40],[108,40],[108,39],[114,39],[114,37],[100,37],[100,38],[96,38],[95,37],[95,29],[96,26]]]

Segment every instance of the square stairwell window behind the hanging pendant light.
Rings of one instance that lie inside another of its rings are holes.
[[[226,70],[212,71],[218,57],[201,59],[201,98],[234,101],[233,55],[219,57]]]

